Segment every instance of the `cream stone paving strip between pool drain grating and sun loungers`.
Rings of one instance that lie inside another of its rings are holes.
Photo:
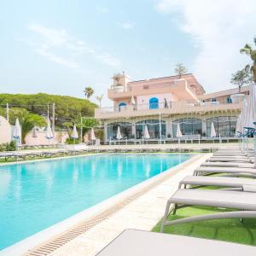
[[[197,154],[183,164],[162,173],[158,177],[154,177],[149,189],[146,189],[148,184],[144,184],[142,188],[137,188],[145,190],[143,195],[135,197],[134,200],[117,211],[113,211],[112,214],[95,224],[90,230],[85,231],[72,241],[68,241],[50,255],[92,256],[96,255],[125,229],[152,230],[162,218],[166,200],[176,191],[179,181],[183,177],[192,174],[194,169],[211,155]],[[132,194],[132,191],[130,192]]]

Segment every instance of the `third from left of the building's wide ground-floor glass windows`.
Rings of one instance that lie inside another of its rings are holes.
[[[173,123],[172,131],[174,137],[176,137],[177,124],[179,124],[183,135],[194,135],[202,133],[201,119],[177,119]]]

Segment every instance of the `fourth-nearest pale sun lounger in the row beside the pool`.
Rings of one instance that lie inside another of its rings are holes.
[[[214,166],[201,166],[195,169],[193,175],[200,176],[205,174],[223,173],[237,176],[256,177],[256,169],[254,168],[239,168],[239,167],[214,167]]]

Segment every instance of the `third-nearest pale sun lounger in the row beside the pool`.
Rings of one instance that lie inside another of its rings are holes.
[[[219,186],[236,188],[242,191],[256,192],[256,179],[245,178],[245,177],[219,177],[219,176],[186,176],[179,183],[179,188],[187,187],[187,185],[196,186]]]

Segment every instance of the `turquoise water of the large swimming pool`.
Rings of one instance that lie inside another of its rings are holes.
[[[0,166],[0,249],[187,159],[189,154],[97,154]]]

